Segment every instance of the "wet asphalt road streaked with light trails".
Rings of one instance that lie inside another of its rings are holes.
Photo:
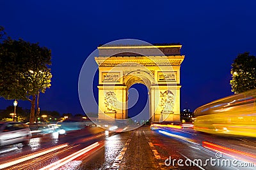
[[[255,169],[255,165],[255,138],[166,127],[118,133],[93,127],[63,136],[45,134],[31,139],[28,146],[0,150],[0,169]]]

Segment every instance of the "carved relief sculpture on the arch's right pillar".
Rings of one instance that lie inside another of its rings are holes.
[[[166,90],[165,92],[160,92],[160,98],[161,98],[161,109],[162,113],[170,113],[173,110],[173,104],[174,104],[174,95],[170,90]]]

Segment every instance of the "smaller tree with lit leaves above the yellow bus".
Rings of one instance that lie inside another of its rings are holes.
[[[235,94],[256,88],[256,57],[248,52],[239,54],[231,69],[230,85]]]

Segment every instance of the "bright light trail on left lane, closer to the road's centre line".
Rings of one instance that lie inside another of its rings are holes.
[[[52,164],[49,164],[48,166],[45,166],[45,167],[42,167],[41,169],[39,170],[45,170],[45,169],[57,169],[58,167],[61,167],[63,166],[64,164],[67,164],[68,162],[70,162],[71,160],[74,160],[76,159],[77,157],[83,155],[84,153],[92,150],[93,148],[96,148],[97,146],[99,146],[99,142],[96,142],[96,143],[93,143],[92,145],[90,146],[87,146],[86,148],[83,148],[83,150],[79,150],[75,153],[72,153],[71,155],[68,155],[67,157],[61,159],[61,160],[58,160]]]

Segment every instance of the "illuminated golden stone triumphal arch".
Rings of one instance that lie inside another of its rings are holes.
[[[125,119],[128,90],[148,88],[152,122],[180,121],[180,44],[99,46],[99,118]]]

